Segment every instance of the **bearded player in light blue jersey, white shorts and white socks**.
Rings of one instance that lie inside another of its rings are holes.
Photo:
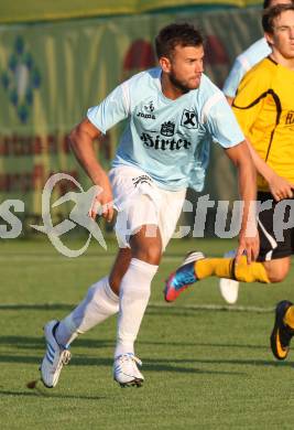
[[[244,201],[238,252],[246,251],[250,262],[259,251],[258,236],[246,235],[247,222],[252,222],[249,206],[255,200],[255,170],[224,94],[203,74],[203,37],[189,24],[171,24],[155,42],[160,67],[119,85],[70,133],[77,160],[102,190],[96,197],[100,213],[107,221],[115,209],[118,213],[119,251],[111,272],[89,288],[77,308],[61,322],[45,325],[47,348],[41,377],[47,387],[57,384],[74,338],[115,314],[113,378],[121,386],[142,385],[134,341],[151,282],[174,233],[186,189],[203,189],[211,141],[224,148],[238,169]],[[107,174],[92,142],[123,119],[128,123]]]

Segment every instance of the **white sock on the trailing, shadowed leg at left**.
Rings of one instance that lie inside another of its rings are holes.
[[[59,345],[68,346],[78,334],[85,333],[119,311],[119,297],[111,290],[108,277],[94,283],[86,298],[56,329]]]

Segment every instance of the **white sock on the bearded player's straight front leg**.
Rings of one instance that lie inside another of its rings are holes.
[[[115,357],[133,353],[142,318],[144,315],[150,286],[159,266],[132,258],[129,269],[120,284],[120,309],[118,320],[118,336]]]

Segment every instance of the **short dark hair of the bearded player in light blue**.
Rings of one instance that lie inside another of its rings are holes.
[[[176,45],[179,46],[200,46],[204,40],[198,30],[193,25],[170,24],[164,26],[155,37],[155,50],[157,57],[171,57]]]

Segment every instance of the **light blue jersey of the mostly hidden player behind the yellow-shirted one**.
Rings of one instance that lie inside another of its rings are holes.
[[[272,50],[265,37],[260,39],[240,54],[232,65],[232,68],[225,82],[222,92],[227,97],[235,97],[240,82],[244,74],[250,71],[255,64],[261,62]]]

